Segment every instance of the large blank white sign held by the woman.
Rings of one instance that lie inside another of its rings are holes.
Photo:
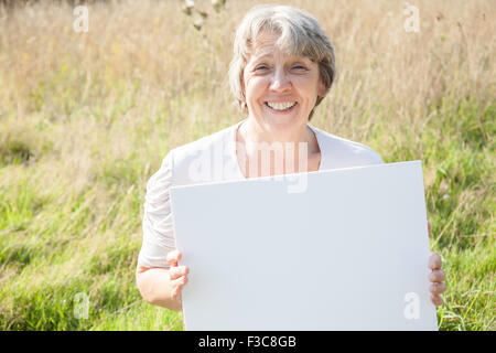
[[[185,330],[438,330],[420,161],[173,186],[171,202]]]

